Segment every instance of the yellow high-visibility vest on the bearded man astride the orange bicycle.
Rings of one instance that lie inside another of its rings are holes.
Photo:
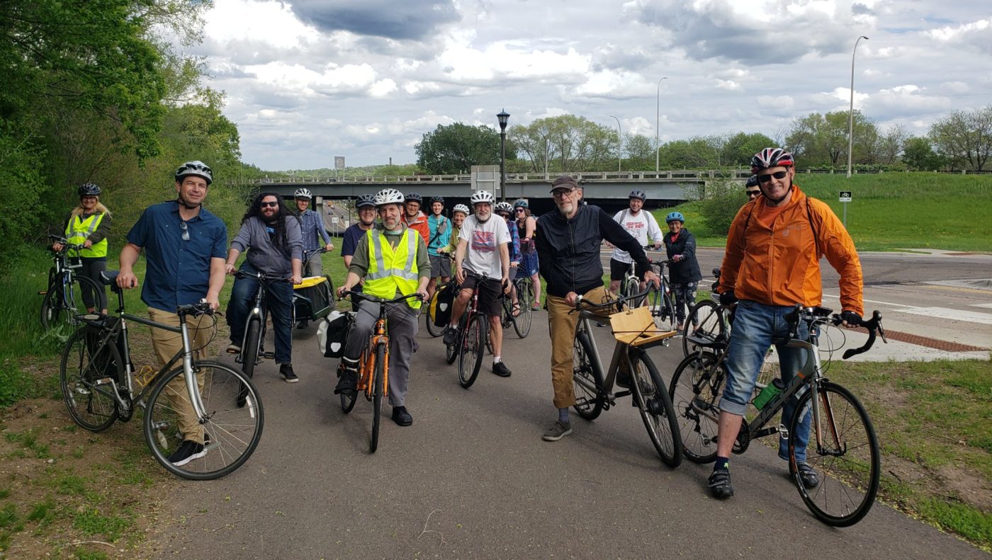
[[[407,228],[395,250],[378,229],[372,228],[366,235],[369,242],[369,269],[362,291],[384,299],[396,297],[397,291],[403,295],[417,291],[420,280],[417,270],[417,238],[420,233]],[[421,307],[419,299],[408,299],[407,304],[414,309]]]

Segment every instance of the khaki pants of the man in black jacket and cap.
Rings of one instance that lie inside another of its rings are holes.
[[[582,299],[602,303],[613,296],[605,287],[596,287],[582,294]],[[567,408],[575,403],[572,387],[574,372],[572,348],[575,341],[575,326],[578,325],[578,312],[569,313],[573,306],[565,303],[564,297],[548,294],[548,327],[552,334],[552,387],[555,389],[555,406]],[[597,314],[606,316],[616,310],[613,307],[597,309]]]

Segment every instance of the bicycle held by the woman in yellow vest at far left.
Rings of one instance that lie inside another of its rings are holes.
[[[42,299],[42,326],[54,327],[63,312],[65,321],[70,326],[75,326],[79,323],[76,316],[86,312],[86,306],[82,302],[83,292],[93,294],[98,310],[103,288],[93,280],[76,276],[75,271],[82,268],[81,262],[77,260],[79,252],[83,249],[82,245],[70,244],[68,240],[58,235],[50,235],[49,239],[62,244],[62,250],[54,251],[53,265],[49,269],[48,287],[38,292],[39,295],[45,296]],[[72,262],[73,259],[76,259],[75,263]]]

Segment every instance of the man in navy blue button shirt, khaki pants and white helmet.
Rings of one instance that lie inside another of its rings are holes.
[[[148,269],[141,299],[148,305],[153,321],[179,327],[177,306],[200,299],[206,299],[215,310],[220,306],[227,227],[202,206],[212,180],[212,171],[202,162],[186,162],[176,171],[177,199],[146,208],[127,234],[117,285],[138,285],[133,269],[144,250]],[[213,319],[206,315],[188,317],[186,324],[192,347],[202,351],[210,342]],[[183,340],[179,333],[152,329],[152,348],[161,367],[183,349]],[[203,383],[201,378],[199,383]],[[178,411],[183,434],[183,443],[169,460],[182,466],[206,455],[203,426],[196,420],[182,376],[176,378],[167,393]]]

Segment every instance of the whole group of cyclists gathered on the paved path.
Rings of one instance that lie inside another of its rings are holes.
[[[840,274],[841,317],[845,325],[860,322],[863,314],[862,277],[853,242],[830,208],[806,196],[793,181],[792,156],[780,148],[762,150],[752,159],[753,176],[748,180],[748,202],[738,211],[727,238],[720,270],[720,294],[724,304],[737,304],[728,348],[728,381],[720,402],[717,460],[709,478],[711,494],[720,499],[733,495],[729,455],[744,407],[754,389],[766,350],[773,338],[787,328],[785,313],[795,304],[818,305],[822,299],[819,257],[825,256]],[[201,298],[219,307],[218,294],[224,276],[235,273],[242,253],[242,271],[290,280],[268,290],[276,339],[276,362],[288,383],[299,381],[292,365],[292,285],[302,277],[319,275],[319,259],[303,270],[308,252],[333,248],[320,216],[308,209],[311,193],[298,189],[297,209],[292,211],[273,192],[254,197],[241,227],[228,245],[223,222],[202,207],[212,172],[201,162],[187,162],[176,172],[175,201],[150,206],[127,235],[121,251],[121,273],[117,283],[130,288],[138,284],[132,271],[139,253],[145,252],[148,272],[142,299],[153,320],[178,322],[177,305]],[[389,303],[390,380],[389,399],[393,420],[401,426],[413,423],[407,407],[411,360],[417,347],[418,316],[440,285],[453,281],[458,287],[452,304],[444,343],[457,337],[458,317],[475,290],[479,310],[489,316],[493,353],[492,372],[510,377],[504,361],[500,297],[513,298],[513,313],[521,312],[513,293],[514,277],[526,277],[534,285],[534,309],[549,315],[552,341],[551,378],[556,415],[542,437],[558,441],[572,431],[568,408],[573,393],[573,338],[577,323],[574,312],[581,298],[594,303],[615,299],[620,280],[633,265],[644,284],[660,285],[645,248],[665,247],[670,264],[671,285],[677,300],[679,330],[687,320],[685,309],[695,299],[701,275],[695,255],[695,239],[679,212],[666,216],[668,232],[662,234],[654,216],[644,210],[647,200],[641,190],[629,195],[628,208],[610,216],[583,201],[583,188],[569,175],[559,176],[551,186],[555,210],[540,218],[532,214],[527,200],[496,203],[491,192],[478,190],[470,197],[471,208],[456,204],[450,217],[444,214],[444,199],[429,201],[429,214],[421,210],[424,198],[386,188],[363,194],[355,201],[358,221],[343,234],[340,255],[347,275],[337,289],[339,297],[364,291],[384,299],[418,294]],[[100,189],[93,184],[79,188],[80,206],[66,220],[65,237],[86,247],[82,255],[87,275],[106,268],[106,237],[109,211],[99,203]],[[81,243],[80,243],[81,241]],[[603,285],[600,260],[602,242],[614,247],[610,257],[610,285]],[[453,272],[453,274],[452,274]],[[545,282],[542,303],[541,279]],[[243,317],[257,289],[249,277],[235,281],[227,308],[231,327],[229,352],[240,350]],[[106,311],[105,295],[86,300],[89,310]],[[368,301],[352,303],[356,311],[344,345],[343,367],[338,370],[335,393],[356,391],[358,360],[378,317],[378,306]],[[240,319],[240,320],[239,320]],[[193,324],[197,340],[206,329]],[[306,324],[298,325],[306,327]],[[802,334],[802,333],[801,333]],[[153,345],[160,361],[176,352],[176,335],[153,332]],[[205,346],[198,345],[200,348]],[[788,383],[806,361],[804,351],[780,347],[783,381]],[[165,358],[163,358],[165,357]],[[532,362],[533,363],[533,362]],[[621,379],[620,383],[624,383]],[[182,400],[185,389],[177,391]],[[182,402],[178,407],[182,406]],[[188,403],[186,403],[188,406]],[[786,425],[795,413],[784,410]],[[808,419],[804,424],[808,438]],[[176,464],[202,456],[203,432],[184,426],[184,443],[176,452]],[[787,458],[785,440],[779,451]],[[818,484],[818,473],[800,462],[807,488]]]

